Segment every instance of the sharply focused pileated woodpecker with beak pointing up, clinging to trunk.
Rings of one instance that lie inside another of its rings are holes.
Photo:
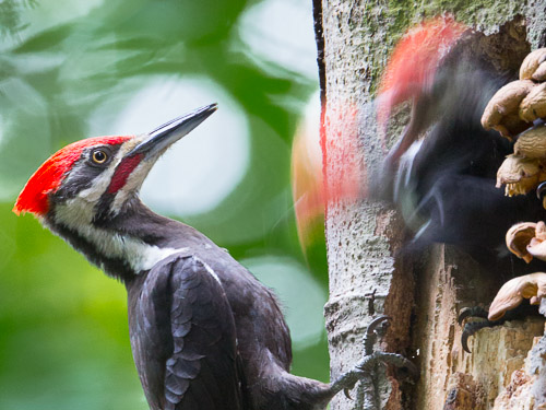
[[[289,331],[273,292],[205,235],[139,199],[157,159],[215,110],[202,107],[149,134],[64,147],[31,177],[14,212],[33,213],[124,283],[151,409],[325,408],[371,362],[332,384],[289,374]]]

